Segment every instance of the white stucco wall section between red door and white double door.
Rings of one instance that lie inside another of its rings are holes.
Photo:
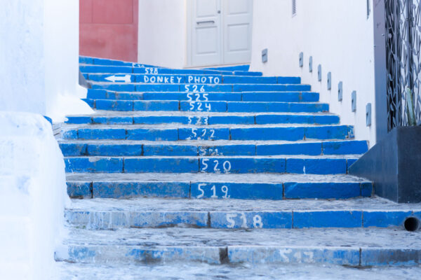
[[[139,0],[138,62],[184,67],[186,18],[185,0]]]

